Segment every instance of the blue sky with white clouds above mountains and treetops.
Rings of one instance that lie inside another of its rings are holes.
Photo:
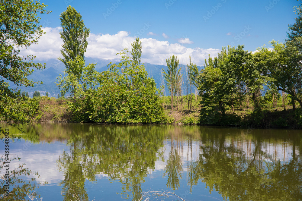
[[[165,65],[172,55],[181,64],[204,65],[223,46],[244,45],[254,52],[269,41],[284,42],[295,23],[296,0],[40,0],[50,14],[39,14],[46,34],[38,44],[22,49],[40,61],[62,57],[59,16],[71,5],[90,29],[85,57],[114,59],[136,37],[142,42],[142,62]]]

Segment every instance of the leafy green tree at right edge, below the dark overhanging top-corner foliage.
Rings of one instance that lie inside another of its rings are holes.
[[[262,61],[263,74],[270,77],[277,90],[291,95],[293,109],[295,101],[302,107],[302,65],[301,54],[295,41],[285,44],[271,41],[273,50],[262,47],[257,53]]]

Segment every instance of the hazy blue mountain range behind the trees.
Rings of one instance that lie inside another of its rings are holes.
[[[88,65],[89,63],[96,63],[95,69],[99,72],[107,71],[108,67],[107,65],[112,62],[115,64],[118,64],[120,59],[112,59],[112,60],[105,60],[101,58],[91,58],[91,57],[85,57],[85,64]],[[45,63],[46,68],[43,71],[35,70],[33,74],[29,76],[29,79],[32,79],[34,81],[42,81],[43,84],[35,85],[34,87],[24,87],[19,86],[18,88],[21,89],[21,92],[26,91],[29,93],[29,95],[32,97],[32,94],[35,91],[39,91],[41,96],[45,96],[46,92],[48,92],[50,97],[57,97],[58,94],[61,95],[60,89],[58,86],[56,86],[56,78],[59,76],[59,74],[63,75],[63,71],[65,69],[65,65],[62,61],[59,61],[57,59],[49,59],[47,61],[36,61],[40,63]],[[160,88],[162,83],[165,85],[164,78],[162,77],[162,68],[167,71],[168,67],[166,65],[156,65],[156,64],[150,64],[150,63],[142,63],[146,67],[146,71],[149,75],[149,77],[153,77],[154,81],[156,83],[156,87]],[[185,74],[185,65],[180,64],[182,67],[182,73],[183,73],[183,80],[186,79]],[[198,67],[199,69],[203,67]],[[183,87],[185,85],[183,84]],[[17,86],[15,84],[11,84],[11,88],[16,88]],[[185,93],[185,92],[183,92]],[[165,95],[168,95],[167,87],[165,86]]]

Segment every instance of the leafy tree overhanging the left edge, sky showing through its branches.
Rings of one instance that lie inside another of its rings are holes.
[[[37,43],[44,33],[39,26],[40,17],[37,14],[49,13],[45,10],[46,5],[37,1],[1,1],[0,20],[0,117],[1,120],[12,125],[10,122],[25,123],[29,121],[24,115],[32,114],[34,108],[28,107],[17,100],[20,90],[11,89],[6,80],[17,86],[34,86],[35,82],[27,77],[34,69],[42,70],[45,65],[34,63],[32,55],[20,57],[21,47],[29,47]],[[15,110],[18,108],[18,110]],[[27,112],[24,112],[27,111]],[[3,129],[0,128],[0,132]]]

